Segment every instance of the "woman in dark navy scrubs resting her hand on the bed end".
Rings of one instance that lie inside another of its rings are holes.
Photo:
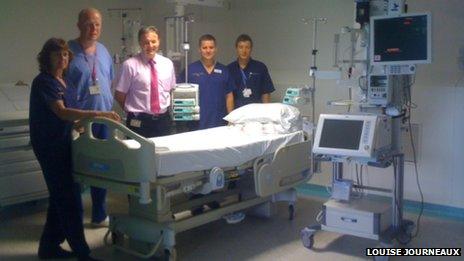
[[[40,74],[32,82],[29,128],[31,144],[47,183],[49,206],[40,238],[40,259],[77,257],[96,260],[90,254],[82,223],[79,186],[71,171],[71,130],[74,122],[91,117],[116,121],[115,112],[84,111],[66,108],[64,74],[72,53],[63,39],[45,42],[38,57]],[[72,251],[61,248],[67,240]]]

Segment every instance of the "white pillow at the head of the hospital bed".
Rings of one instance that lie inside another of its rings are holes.
[[[229,113],[224,120],[233,123],[273,123],[289,130],[301,125],[300,111],[283,103],[252,103],[242,106]]]

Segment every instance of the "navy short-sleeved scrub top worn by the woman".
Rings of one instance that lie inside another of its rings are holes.
[[[71,145],[72,123],[58,118],[50,108],[54,101],[65,102],[64,91],[65,87],[48,73],[40,73],[32,82],[29,130],[34,148],[55,150]]]

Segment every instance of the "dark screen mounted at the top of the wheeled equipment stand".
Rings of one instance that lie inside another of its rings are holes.
[[[373,64],[431,62],[430,15],[373,17],[371,61]]]

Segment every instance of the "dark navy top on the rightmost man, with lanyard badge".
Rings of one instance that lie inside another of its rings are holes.
[[[266,65],[260,61],[250,59],[243,70],[243,74],[238,61],[230,63],[227,68],[236,86],[234,91],[235,108],[250,103],[261,103],[261,96],[263,94],[271,93],[275,90]],[[250,97],[243,96],[245,88],[251,89],[252,93]]]

